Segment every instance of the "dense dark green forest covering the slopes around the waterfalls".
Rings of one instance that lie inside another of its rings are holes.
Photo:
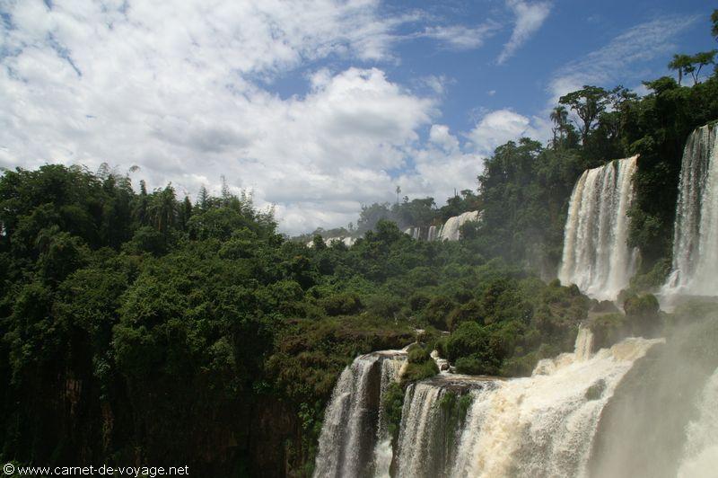
[[[226,187],[190,200],[109,166],[4,171],[0,461],[308,476],[332,388],[358,354],[419,341],[406,381],[437,373],[433,349],[460,373],[526,376],[573,350],[591,311],[612,312],[592,324],[600,345],[655,334],[683,146],[718,119],[714,57],[676,55],[679,79],[646,81],[644,96],[566,94],[546,145],[497,147],[477,190],[441,208],[365,206],[342,230],[359,237],[351,247],[281,235],[271,210]],[[551,276],[575,181],[630,155],[641,258],[620,312]],[[459,242],[402,233],[469,210],[482,220]]]

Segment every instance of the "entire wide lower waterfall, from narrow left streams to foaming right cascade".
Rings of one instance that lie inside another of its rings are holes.
[[[362,356],[337,382],[315,476],[587,475],[602,410],[657,342],[630,338],[593,353],[592,334],[581,328],[574,353],[541,360],[530,377],[442,374],[408,385],[393,450],[376,399],[403,357]],[[394,365],[385,367],[387,358]]]

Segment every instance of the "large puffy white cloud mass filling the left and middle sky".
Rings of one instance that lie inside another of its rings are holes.
[[[216,190],[223,174],[232,189],[253,190],[259,205],[276,204],[290,233],[355,220],[361,204],[391,199],[398,180],[407,193],[437,197],[470,187],[479,158],[462,154],[448,128],[431,128],[422,145],[444,78],[433,78],[427,95],[376,67],[318,69],[309,91],[290,98],[262,86],[320,58],[391,61],[394,29],[413,19],[379,6],[4,4],[0,165],[107,162],[123,172],[137,164],[133,178],[151,187],[171,181],[180,194],[202,184]],[[456,46],[478,35],[430,33]]]

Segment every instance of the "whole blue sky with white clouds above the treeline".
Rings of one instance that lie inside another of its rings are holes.
[[[496,146],[547,140],[562,94],[644,94],[674,53],[718,48],[715,6],[0,0],[0,168],[106,163],[180,197],[224,177],[290,235],[397,186],[441,206]]]

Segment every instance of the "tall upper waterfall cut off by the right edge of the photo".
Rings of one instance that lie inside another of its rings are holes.
[[[667,293],[718,295],[718,128],[688,137],[680,167],[673,238],[673,270]]]

